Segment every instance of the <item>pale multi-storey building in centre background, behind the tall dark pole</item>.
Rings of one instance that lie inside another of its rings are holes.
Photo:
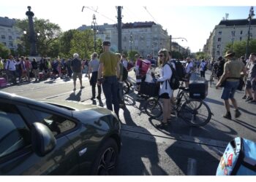
[[[82,25],[78,30],[91,29],[91,25]],[[118,50],[118,30],[117,25],[98,25],[97,39],[111,42],[111,49]],[[154,22],[124,23],[121,29],[121,47],[123,52],[135,50],[143,57],[151,54],[157,56],[160,49],[170,50],[170,36],[161,25]]]

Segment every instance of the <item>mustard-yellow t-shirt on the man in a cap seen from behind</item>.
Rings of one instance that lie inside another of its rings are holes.
[[[118,56],[113,52],[103,52],[99,56],[99,63],[103,63],[103,76],[116,76]]]

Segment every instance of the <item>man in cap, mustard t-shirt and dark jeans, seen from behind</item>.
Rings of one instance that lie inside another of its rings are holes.
[[[114,111],[119,119],[119,104],[118,104],[118,76],[119,76],[119,61],[115,53],[110,51],[110,41],[103,41],[103,51],[99,56],[99,70],[97,83],[102,84],[102,90],[106,98],[106,105],[110,111]]]

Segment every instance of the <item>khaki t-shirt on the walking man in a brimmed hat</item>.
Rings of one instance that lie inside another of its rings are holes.
[[[228,77],[234,77],[234,78],[240,78],[241,76],[240,74],[241,74],[241,71],[243,71],[243,68],[244,68],[244,63],[237,59],[228,60],[224,65],[224,71],[225,72],[229,71],[230,73]],[[238,79],[227,79],[227,81],[237,82]]]

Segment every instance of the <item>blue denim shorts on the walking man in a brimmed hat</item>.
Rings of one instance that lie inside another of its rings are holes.
[[[234,98],[236,89],[239,85],[239,81],[236,82],[229,82],[227,81],[225,83],[225,86],[222,89],[222,99],[223,100],[228,100],[229,98]]]

